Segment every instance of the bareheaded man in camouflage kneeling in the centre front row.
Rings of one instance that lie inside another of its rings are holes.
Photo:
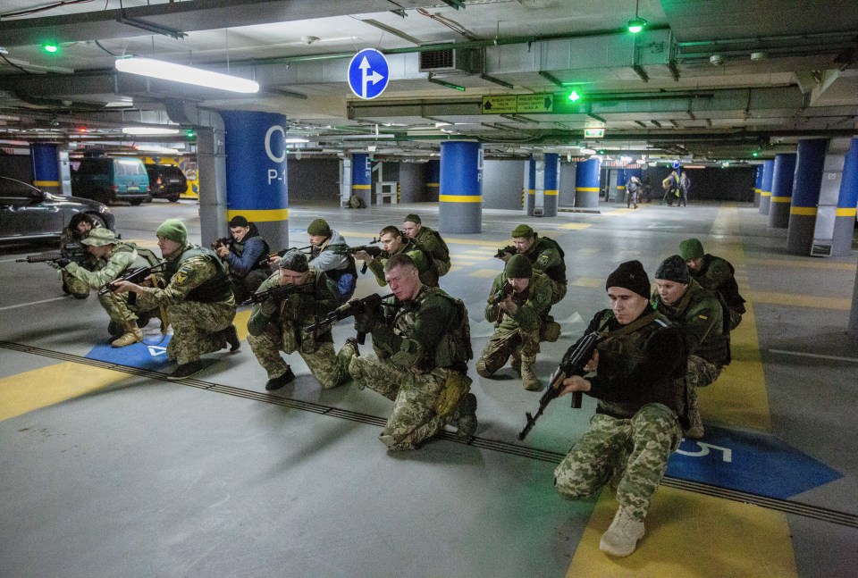
[[[477,423],[476,398],[467,392],[467,310],[442,289],[425,287],[408,255],[391,256],[384,272],[393,296],[355,316],[355,329],[372,333],[374,353],[357,355],[351,341],[343,347],[358,387],[393,401],[379,440],[391,450],[414,449],[448,423],[470,438]]]

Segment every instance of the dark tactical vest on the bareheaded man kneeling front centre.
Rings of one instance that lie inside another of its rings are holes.
[[[406,302],[394,309],[392,315],[393,333],[402,338],[411,339],[416,323],[417,311],[423,306],[429,297],[440,296],[450,302],[456,310],[450,323],[443,332],[443,337],[435,345],[434,351],[425,351],[427,357],[425,363],[418,364],[423,367],[445,367],[462,373],[467,373],[467,362],[474,357],[471,348],[471,329],[467,317],[467,308],[461,299],[450,297],[443,289],[437,287],[425,287],[413,300]],[[392,299],[393,297],[391,297]]]

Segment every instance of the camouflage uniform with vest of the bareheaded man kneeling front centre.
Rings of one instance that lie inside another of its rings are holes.
[[[373,334],[374,353],[353,356],[349,373],[358,386],[393,401],[379,439],[393,450],[414,449],[460,416],[458,410],[438,415],[435,404],[449,379],[470,385],[470,336],[454,339],[462,320],[442,289],[423,287],[412,301],[397,304],[390,297],[388,303],[383,318],[376,316],[366,328]]]

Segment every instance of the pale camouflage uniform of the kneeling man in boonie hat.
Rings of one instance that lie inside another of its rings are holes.
[[[101,289],[132,266],[148,265],[150,263],[147,260],[139,257],[137,247],[130,243],[117,242],[109,259],[98,260],[97,269],[89,271],[83,266],[70,263],[66,265],[64,272],[74,280],[76,285],[86,287],[89,291]],[[149,318],[157,314],[156,310],[151,310],[151,307],[146,309],[140,306],[139,301],[133,306],[130,305],[129,295],[130,293],[120,294],[108,291],[98,296],[98,302],[105,308],[111,322],[119,328],[136,325],[140,315]]]

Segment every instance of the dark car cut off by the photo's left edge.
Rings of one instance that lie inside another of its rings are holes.
[[[101,203],[54,195],[21,180],[0,177],[0,241],[59,239],[76,213],[114,230],[114,214]]]

